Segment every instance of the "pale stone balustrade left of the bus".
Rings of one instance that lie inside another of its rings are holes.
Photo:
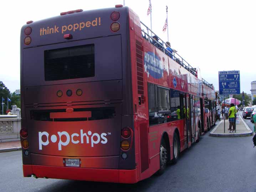
[[[0,115],[0,142],[20,140],[21,118]]]

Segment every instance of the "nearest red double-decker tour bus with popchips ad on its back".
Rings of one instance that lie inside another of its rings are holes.
[[[214,90],[142,26],[116,5],[21,28],[24,177],[136,183],[199,141]]]

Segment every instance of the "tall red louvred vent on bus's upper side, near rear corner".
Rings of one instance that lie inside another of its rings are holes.
[[[142,43],[136,40],[137,86],[141,95],[141,103],[144,104],[144,72]]]

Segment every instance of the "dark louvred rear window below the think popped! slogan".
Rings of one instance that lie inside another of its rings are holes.
[[[94,45],[46,50],[45,81],[94,77]]]

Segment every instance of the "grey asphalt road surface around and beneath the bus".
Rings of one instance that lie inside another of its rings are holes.
[[[253,129],[250,119],[245,121]],[[21,152],[4,152],[0,153],[0,191],[256,191],[256,148],[251,139],[252,136],[210,137],[207,133],[162,176],[154,175],[133,185],[24,178]]]

